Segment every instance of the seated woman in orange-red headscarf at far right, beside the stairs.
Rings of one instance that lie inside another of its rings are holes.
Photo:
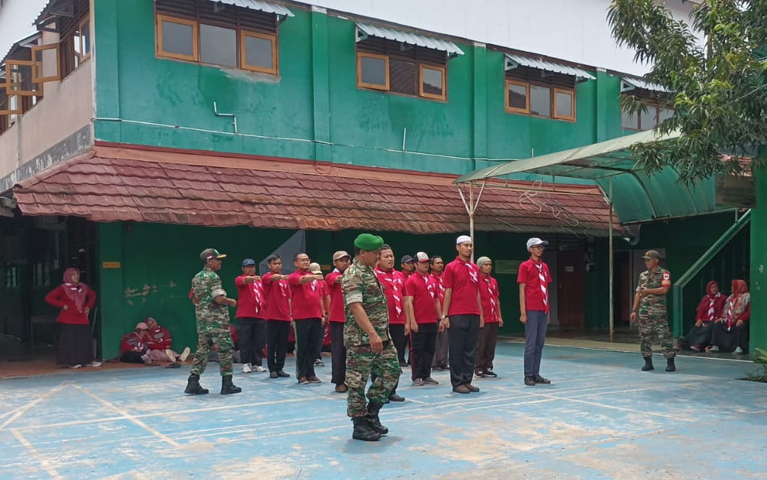
[[[749,318],[751,318],[751,294],[745,280],[732,280],[732,293],[727,297],[722,318],[714,322],[711,345],[706,351],[735,351],[742,354],[749,350]]]

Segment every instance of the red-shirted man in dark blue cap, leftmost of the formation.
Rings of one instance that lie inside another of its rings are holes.
[[[264,372],[262,352],[266,344],[266,319],[264,318],[264,287],[261,277],[255,274],[255,260],[242,260],[242,275],[235,278],[237,287],[237,312],[239,325],[240,361],[242,373]]]

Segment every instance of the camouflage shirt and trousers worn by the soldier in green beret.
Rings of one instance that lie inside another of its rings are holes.
[[[344,346],[346,347],[347,415],[367,415],[365,385],[370,373],[376,379],[367,390],[371,402],[388,403],[391,390],[397,385],[402,369],[397,360],[397,348],[389,336],[389,310],[384,288],[378,281],[374,269],[354,260],[341,277],[341,291],[344,293],[346,323],[344,324]],[[349,310],[350,303],[361,302],[378,336],[384,341],[384,350],[374,353],[370,349],[370,338],[362,331]]]

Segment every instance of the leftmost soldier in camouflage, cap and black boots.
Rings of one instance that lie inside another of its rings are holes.
[[[221,279],[216,271],[221,269],[221,260],[225,255],[215,248],[207,248],[199,254],[205,264],[192,279],[192,301],[195,305],[197,335],[199,342],[194,354],[192,371],[184,393],[202,395],[208,389],[199,385],[199,376],[205,371],[210,354],[210,344],[216,346],[221,367],[221,394],[240,393],[242,388],[232,384],[232,334],[229,331],[229,306],[237,306],[235,299],[226,297],[221,286]]]

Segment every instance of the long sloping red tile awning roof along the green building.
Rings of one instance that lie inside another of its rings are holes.
[[[456,233],[468,229],[469,217],[455,178],[97,144],[21,181],[13,193],[25,215],[96,222]],[[607,236],[608,207],[595,187],[542,192],[523,182],[515,182],[518,189],[500,186],[491,182],[482,194],[476,230]]]

